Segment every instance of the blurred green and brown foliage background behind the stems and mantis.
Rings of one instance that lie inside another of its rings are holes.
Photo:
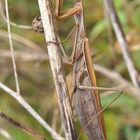
[[[55,1],[53,0],[53,8]],[[83,0],[85,8],[85,29],[90,40],[90,46],[94,50],[96,63],[101,64],[108,69],[112,69],[121,73],[124,78],[128,79],[124,60],[122,59],[120,49],[117,46],[117,41],[112,31],[111,40],[113,47],[110,45],[108,37],[107,21],[104,17],[103,1],[102,0]],[[123,29],[127,36],[131,38],[131,54],[135,62],[136,68],[140,72],[140,2],[139,0],[115,0],[117,12],[123,25]],[[67,10],[73,6],[72,1],[64,3],[63,10]],[[9,0],[10,19],[17,24],[31,25],[34,17],[39,15],[38,3],[35,0]],[[6,31],[6,25],[1,17],[1,30]],[[70,30],[74,26],[72,18],[60,21],[57,23],[59,35],[62,40],[66,38]],[[16,27],[11,27],[12,32],[18,34],[28,40],[37,43],[43,52],[46,52],[44,36],[35,33],[32,30],[22,30]],[[133,40],[133,35],[136,34],[137,42]],[[67,53],[72,52],[73,46],[72,36],[66,43],[65,48]],[[139,48],[133,51],[133,44],[139,45]],[[24,50],[28,52],[28,48],[21,43],[14,42],[16,50]],[[0,37],[0,49],[9,49],[8,39]],[[117,50],[117,51],[116,51]],[[34,50],[32,50],[34,51]],[[32,51],[29,52],[32,55]],[[41,53],[41,52],[39,52]],[[18,75],[20,79],[21,93],[23,97],[31,104],[31,106],[49,123],[52,123],[54,110],[58,109],[56,95],[54,91],[54,83],[51,76],[49,62],[46,60],[20,61],[17,60]],[[71,68],[65,66],[66,73],[71,71]],[[15,89],[15,81],[13,77],[11,60],[5,57],[0,61],[0,80]],[[97,82],[100,86],[112,87],[113,84],[106,80],[105,77],[97,73]],[[40,134],[51,140],[51,136],[40,126],[12,97],[6,95],[0,90],[0,110],[11,116],[22,124],[34,128]],[[113,99],[113,96],[101,98],[102,105],[105,106]],[[109,107],[105,115],[105,126],[108,140],[139,140],[140,136],[140,107],[136,99],[129,97],[127,93],[122,95],[111,107]],[[60,125],[60,117],[58,117],[58,126]],[[6,124],[6,125],[5,125]],[[14,128],[10,124],[0,119],[0,125],[7,130],[16,140],[33,140],[34,138],[25,134],[21,130]],[[77,131],[80,131],[79,123],[76,122]],[[4,140],[0,136],[0,140]],[[86,140],[86,137],[81,137],[81,140]]]

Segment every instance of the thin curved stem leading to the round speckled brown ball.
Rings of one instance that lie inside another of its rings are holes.
[[[7,23],[7,18],[6,18],[6,15],[5,15],[5,8],[4,8],[4,0],[0,0],[0,14],[4,20],[5,23]],[[9,21],[10,25],[11,26],[14,26],[16,28],[21,28],[21,29],[32,29],[32,26],[27,26],[27,25],[19,25],[19,24],[16,24],[12,21]]]

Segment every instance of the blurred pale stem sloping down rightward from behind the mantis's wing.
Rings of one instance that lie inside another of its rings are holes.
[[[97,72],[103,74],[108,79],[113,80],[115,83],[118,83],[119,85],[123,85],[122,88],[125,89],[130,96],[140,101],[139,89],[130,84],[127,80],[125,80],[119,73],[109,70],[98,64],[94,64],[94,68]]]

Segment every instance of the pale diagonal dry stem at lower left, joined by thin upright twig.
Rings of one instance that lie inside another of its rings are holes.
[[[20,94],[17,94],[3,83],[0,82],[0,88],[7,92],[10,96],[15,98],[19,104],[22,105],[56,140],[64,140],[59,134],[56,133],[43,119],[42,117],[22,98]]]

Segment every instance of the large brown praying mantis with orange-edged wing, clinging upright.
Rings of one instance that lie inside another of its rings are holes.
[[[75,107],[82,126],[86,126],[85,130],[88,138],[90,140],[106,140],[102,113],[100,113],[94,119],[94,122],[91,121],[91,119],[101,111],[98,90],[106,90],[106,88],[99,88],[96,85],[96,77],[92,66],[89,41],[86,37],[84,28],[82,0],[75,0],[74,7],[69,9],[64,14],[61,14],[62,6],[63,0],[56,0],[56,20],[63,20],[74,16],[76,23],[74,49],[71,56],[74,69],[73,94],[76,101]],[[33,29],[35,31],[43,32],[43,26],[41,22],[42,21],[40,17],[37,17],[33,21]],[[87,125],[89,122],[90,124]]]

